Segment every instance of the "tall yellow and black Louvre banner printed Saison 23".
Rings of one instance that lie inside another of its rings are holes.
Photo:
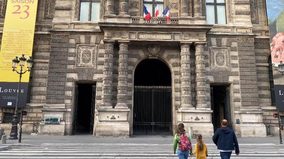
[[[0,107],[15,107],[18,91],[18,106],[26,104],[29,72],[22,76],[18,90],[19,75],[12,71],[12,60],[21,54],[27,59],[32,55],[36,14],[37,0],[7,1],[0,51]],[[16,69],[20,71],[20,66]]]

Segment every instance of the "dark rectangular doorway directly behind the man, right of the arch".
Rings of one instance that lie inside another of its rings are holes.
[[[221,121],[223,119],[228,120],[231,127],[231,109],[230,109],[230,90],[229,85],[211,86],[211,108],[212,124],[214,125],[214,131],[221,127]]]

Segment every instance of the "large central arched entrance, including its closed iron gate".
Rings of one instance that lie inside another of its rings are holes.
[[[134,135],[172,135],[171,71],[158,59],[141,61],[134,72]]]

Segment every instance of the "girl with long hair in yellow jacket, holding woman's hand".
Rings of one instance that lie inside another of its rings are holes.
[[[194,152],[190,155],[196,155],[196,159],[206,159],[208,152],[206,144],[202,141],[202,135],[198,134],[196,140]]]

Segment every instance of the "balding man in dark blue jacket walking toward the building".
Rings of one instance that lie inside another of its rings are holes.
[[[239,155],[239,144],[235,132],[228,128],[228,121],[222,120],[222,127],[215,131],[213,142],[220,151],[221,159],[230,159],[232,151]]]

